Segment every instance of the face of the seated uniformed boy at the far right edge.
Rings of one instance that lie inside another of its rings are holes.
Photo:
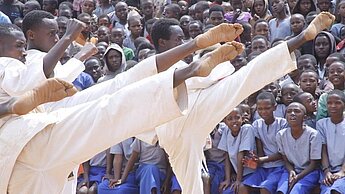
[[[344,102],[341,100],[341,97],[337,94],[328,95],[327,97],[327,110],[329,116],[339,117],[343,115],[344,111]]]

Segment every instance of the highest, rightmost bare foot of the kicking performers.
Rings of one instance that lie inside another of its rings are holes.
[[[313,40],[316,35],[322,30],[330,27],[334,22],[335,17],[329,12],[321,12],[309,24],[305,30],[304,37],[307,41]]]

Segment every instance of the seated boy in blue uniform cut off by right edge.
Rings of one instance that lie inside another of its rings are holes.
[[[340,194],[345,193],[344,92],[330,92],[327,108],[330,117],[319,120],[316,125],[322,139],[321,193]]]

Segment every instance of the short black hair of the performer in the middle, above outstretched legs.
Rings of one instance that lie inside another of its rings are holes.
[[[158,40],[169,40],[171,36],[171,26],[180,26],[180,22],[172,18],[162,18],[156,21],[151,28],[151,38],[155,49],[159,48]]]

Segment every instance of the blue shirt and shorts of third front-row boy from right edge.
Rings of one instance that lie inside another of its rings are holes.
[[[284,118],[278,117],[276,117],[274,122],[270,125],[267,125],[263,119],[258,119],[253,122],[255,137],[261,140],[265,156],[278,153],[278,145],[275,137],[278,131],[287,126],[287,121]],[[264,188],[271,193],[275,193],[278,187],[279,178],[283,171],[283,160],[267,162],[249,175],[249,177],[243,181],[243,184],[254,188]]]

